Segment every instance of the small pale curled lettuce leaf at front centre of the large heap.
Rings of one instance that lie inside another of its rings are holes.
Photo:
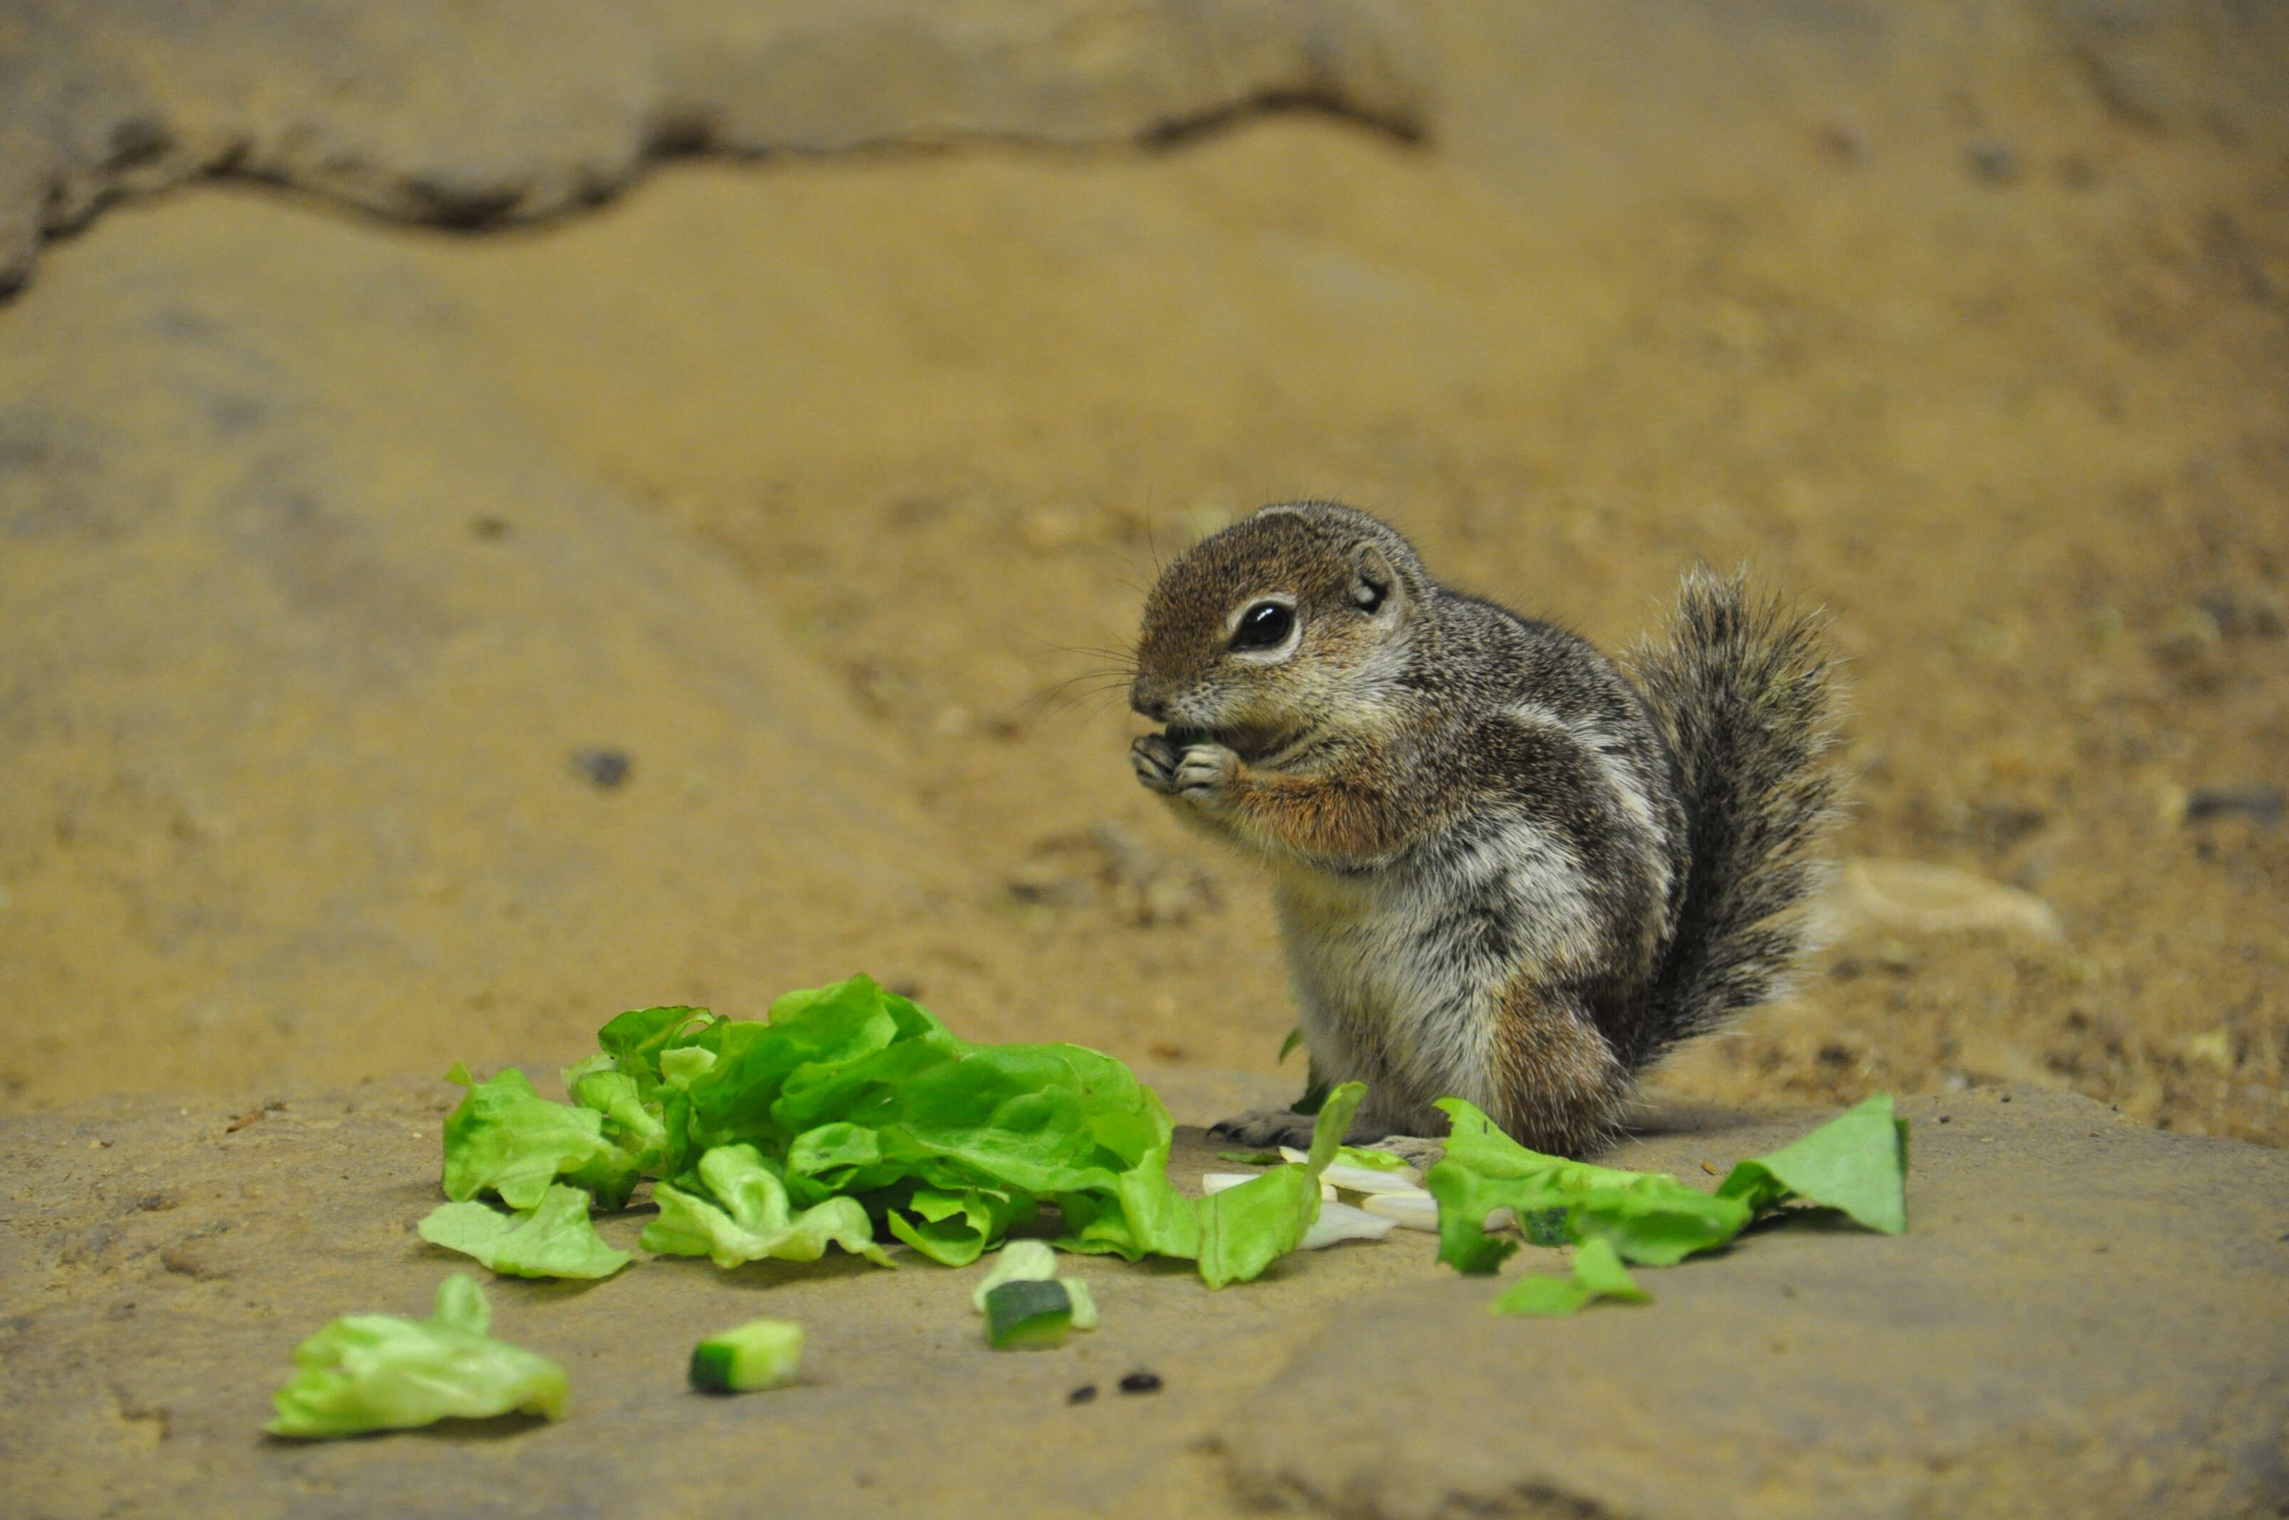
[[[797,1213],[787,1188],[753,1145],[719,1145],[700,1156],[698,1188],[659,1183],[652,1202],[659,1218],[643,1227],[639,1245],[668,1257],[707,1257],[716,1266],[742,1261],[817,1261],[829,1245],[890,1266],[874,1243],[865,1209],[852,1197],[831,1197]]]

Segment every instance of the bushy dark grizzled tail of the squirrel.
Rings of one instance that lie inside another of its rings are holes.
[[[1678,758],[1692,865],[1632,1067],[1788,989],[1827,881],[1843,778],[1827,618],[1692,570],[1666,643],[1630,659]]]

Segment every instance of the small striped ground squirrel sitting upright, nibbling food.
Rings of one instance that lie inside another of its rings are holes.
[[[1582,1154],[1669,1046],[1781,989],[1838,799],[1820,620],[1696,570],[1630,668],[1332,501],[1151,588],[1131,705],[1165,733],[1131,760],[1270,868],[1314,1083],[1367,1083],[1355,1140],[1440,1135],[1451,1094]]]

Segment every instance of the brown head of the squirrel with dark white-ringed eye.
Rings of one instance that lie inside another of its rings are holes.
[[[1332,501],[1266,506],[1144,597],[1128,705],[1261,760],[1389,717],[1431,593],[1394,529]]]

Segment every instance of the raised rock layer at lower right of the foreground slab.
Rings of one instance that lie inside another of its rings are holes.
[[[1385,1296],[1264,1387],[1321,1417],[1229,1438],[1243,1493],[1394,1520],[2278,1513],[2282,1156],[2033,1087],[1902,1113],[1907,1238],[1751,1234],[1644,1273],[1650,1314],[1557,1328],[1490,1330],[1472,1282]],[[1767,1133],[1685,1154],[1721,1170]]]

